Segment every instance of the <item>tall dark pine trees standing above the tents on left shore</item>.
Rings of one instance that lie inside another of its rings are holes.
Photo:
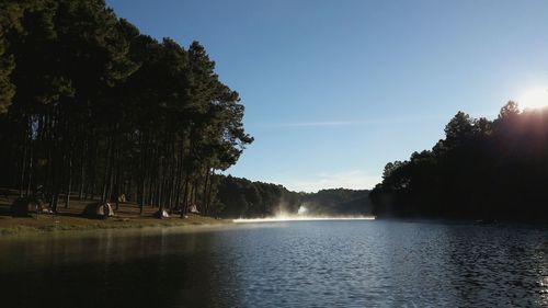
[[[124,194],[208,213],[214,173],[252,142],[197,42],[161,42],[103,0],[0,1],[0,185],[54,210]]]

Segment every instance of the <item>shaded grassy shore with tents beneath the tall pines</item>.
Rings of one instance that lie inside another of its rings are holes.
[[[121,203],[116,216],[106,220],[89,219],[82,217],[85,205],[96,201],[70,202],[69,208],[65,204],[58,206],[56,215],[41,214],[33,217],[12,217],[10,206],[16,198],[14,191],[8,195],[0,194],[0,235],[15,235],[26,232],[46,232],[61,230],[90,230],[90,229],[117,229],[117,228],[142,228],[161,226],[192,226],[192,225],[219,225],[227,224],[228,220],[215,219],[199,215],[189,215],[187,218],[180,218],[179,215],[165,219],[158,219],[153,214],[158,208],[145,206],[142,215],[139,215],[139,207],[135,203]],[[114,208],[113,204],[113,208]]]

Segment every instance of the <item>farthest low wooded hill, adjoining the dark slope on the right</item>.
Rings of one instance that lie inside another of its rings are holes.
[[[369,215],[373,205],[369,191],[345,189],[321,190],[302,196],[306,213],[316,216]]]

